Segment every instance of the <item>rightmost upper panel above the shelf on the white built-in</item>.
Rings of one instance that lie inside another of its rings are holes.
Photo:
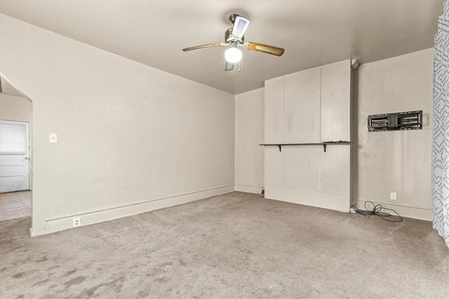
[[[321,68],[321,141],[351,141],[351,64]]]

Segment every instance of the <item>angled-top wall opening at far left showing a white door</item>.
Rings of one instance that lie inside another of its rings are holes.
[[[32,123],[32,100],[1,74],[1,221],[32,217]]]

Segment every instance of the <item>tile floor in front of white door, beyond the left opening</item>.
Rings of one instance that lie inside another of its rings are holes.
[[[0,193],[0,221],[31,216],[31,191]]]

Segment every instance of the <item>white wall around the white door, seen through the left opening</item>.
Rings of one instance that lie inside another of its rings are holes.
[[[29,123],[29,173],[33,173],[32,146],[32,102],[26,97],[16,97],[0,93],[0,120],[13,120]],[[33,177],[29,176],[29,188]]]

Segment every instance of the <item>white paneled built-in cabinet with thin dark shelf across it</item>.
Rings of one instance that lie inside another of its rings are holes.
[[[265,197],[349,211],[351,204],[350,61],[265,82]],[[311,145],[291,145],[311,144]]]

